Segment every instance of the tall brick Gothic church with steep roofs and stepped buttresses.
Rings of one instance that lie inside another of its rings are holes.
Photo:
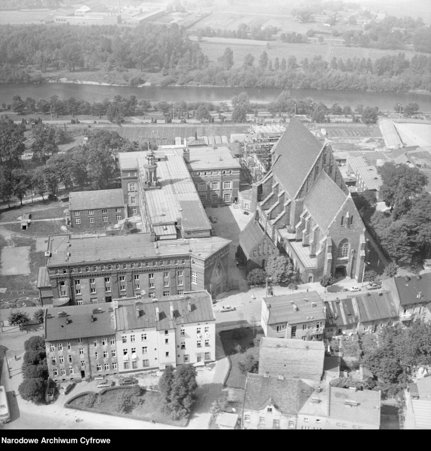
[[[293,117],[272,152],[270,171],[253,185],[258,225],[292,259],[298,280],[331,274],[361,281],[365,226],[330,146]]]

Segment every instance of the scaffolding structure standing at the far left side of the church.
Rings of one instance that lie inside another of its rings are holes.
[[[255,183],[265,176],[272,165],[271,149],[286,128],[279,124],[253,125],[247,131],[240,164],[249,183]]]

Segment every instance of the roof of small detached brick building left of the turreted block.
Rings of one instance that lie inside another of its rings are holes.
[[[121,188],[75,191],[69,194],[70,211],[113,207],[124,207],[123,190]]]

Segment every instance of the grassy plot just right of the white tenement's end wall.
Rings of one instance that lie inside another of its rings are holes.
[[[262,329],[255,332],[251,327],[240,328],[244,336],[236,338],[237,329],[232,331],[225,331],[220,333],[222,339],[223,349],[231,362],[231,370],[229,372],[226,385],[232,388],[244,388],[246,375],[239,370],[238,363],[247,355],[253,355],[256,359],[259,358],[259,345],[261,338],[264,337]],[[239,347],[241,350],[239,350]]]

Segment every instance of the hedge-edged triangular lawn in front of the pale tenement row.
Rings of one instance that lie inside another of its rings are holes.
[[[109,413],[112,415],[115,412],[115,406],[118,405],[118,401],[124,397],[125,391],[131,391],[134,388],[114,388],[108,389],[99,396],[96,393],[85,393],[82,396],[78,396],[68,404],[71,408],[89,408],[93,406],[93,409],[100,413]],[[130,412],[127,412],[127,416],[144,421],[155,421],[156,423],[169,424],[173,426],[184,427],[187,425],[187,419],[175,421],[172,420],[166,413],[163,412],[163,398],[160,392],[141,390],[140,396],[133,398],[134,405]],[[118,412],[118,411],[117,411]],[[121,414],[124,416],[125,414]]]

